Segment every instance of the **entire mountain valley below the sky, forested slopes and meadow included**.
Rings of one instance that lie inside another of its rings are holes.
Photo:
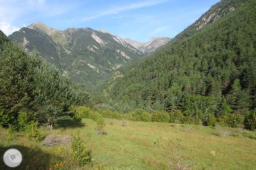
[[[20,150],[17,169],[254,170],[255,26],[256,0],[221,0],[147,43],[0,31],[0,155]]]

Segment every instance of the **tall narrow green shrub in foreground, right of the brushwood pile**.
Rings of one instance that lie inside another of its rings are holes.
[[[75,135],[71,134],[71,137],[71,156],[73,160],[79,165],[86,165],[91,163],[90,153],[85,152],[84,150],[84,145],[82,144],[80,131],[77,130]]]

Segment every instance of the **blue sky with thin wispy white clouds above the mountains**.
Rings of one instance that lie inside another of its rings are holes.
[[[219,0],[0,0],[0,29],[8,36],[41,21],[58,30],[103,29],[148,42],[174,38]]]

